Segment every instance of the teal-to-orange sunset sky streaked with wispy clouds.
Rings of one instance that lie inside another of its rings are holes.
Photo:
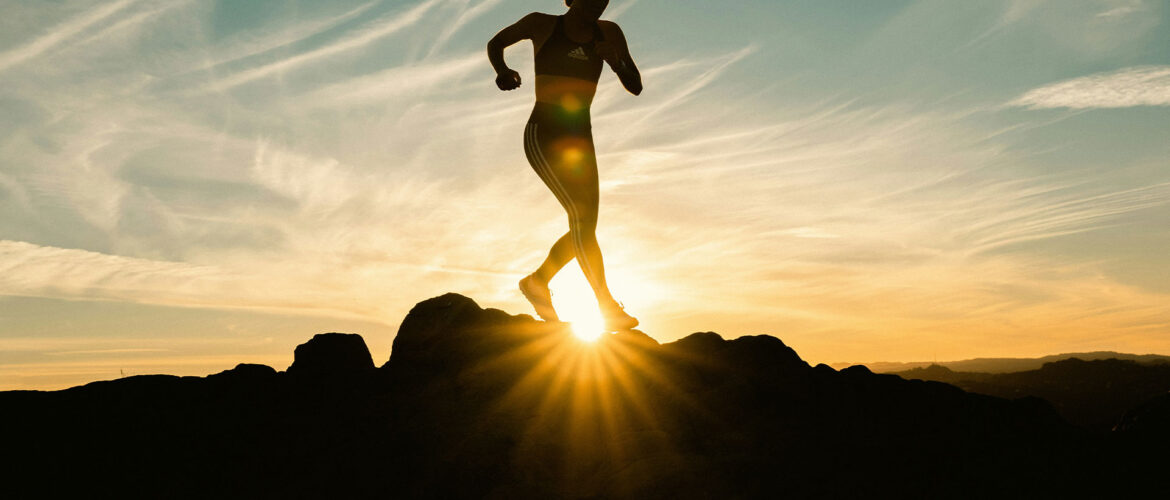
[[[567,227],[523,152],[557,0],[0,1],[0,390],[390,356]],[[1170,2],[613,0],[598,239],[660,342],[1170,354]],[[590,301],[570,263],[558,307]]]

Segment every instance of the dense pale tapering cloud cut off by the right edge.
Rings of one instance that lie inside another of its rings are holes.
[[[1028,109],[1170,105],[1170,66],[1142,66],[1066,80],[1028,90],[1009,104]]]

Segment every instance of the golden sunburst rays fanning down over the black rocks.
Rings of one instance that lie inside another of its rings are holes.
[[[645,334],[601,334],[594,342],[583,342],[566,324],[538,324],[481,368],[521,368],[493,409],[521,416],[526,424],[517,437],[515,458],[555,460],[565,494],[591,494],[580,488],[619,478],[617,467],[628,465],[629,457],[674,452],[667,420],[676,417],[674,411],[711,417],[673,378],[673,351]],[[667,411],[663,400],[675,406]],[[528,452],[550,441],[563,446]],[[611,487],[620,489],[620,484]]]

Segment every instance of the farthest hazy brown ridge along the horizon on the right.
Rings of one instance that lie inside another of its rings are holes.
[[[1162,356],[1156,354],[1124,354],[1114,351],[1094,351],[1094,352],[1066,352],[1057,354],[1044,357],[977,357],[973,359],[962,359],[962,361],[921,361],[921,362],[872,362],[872,363],[832,363],[831,367],[834,369],[844,369],[853,367],[856,364],[863,364],[866,368],[873,370],[875,374],[894,374],[906,370],[913,370],[915,368],[927,368],[930,365],[944,367],[952,371],[970,371],[970,372],[983,372],[983,374],[1010,374],[1013,371],[1027,371],[1027,370],[1039,370],[1046,363],[1053,363],[1058,361],[1065,361],[1071,358],[1078,358],[1081,361],[1095,361],[1095,359],[1129,359],[1142,364],[1158,364],[1165,363],[1170,364],[1170,356]]]

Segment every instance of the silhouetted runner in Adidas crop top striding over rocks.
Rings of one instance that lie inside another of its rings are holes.
[[[524,153],[532,170],[569,213],[569,232],[560,237],[536,272],[519,281],[519,289],[545,321],[558,321],[549,281],[571,259],[593,287],[610,331],[638,326],[610,294],[601,248],[597,245],[597,158],[589,107],[597,93],[601,62],[618,74],[626,90],[642,91],[642,77],[629,57],[621,28],[601,21],[610,0],[565,0],[564,15],[531,13],[502,29],[488,42],[488,60],[496,69],[500,90],[519,87],[519,74],[504,63],[504,48],[531,40],[536,54],[536,107],[524,129]]]

